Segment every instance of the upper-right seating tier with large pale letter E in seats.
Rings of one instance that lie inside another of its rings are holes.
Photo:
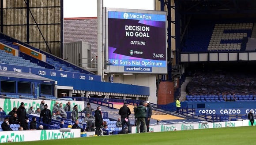
[[[252,22],[193,23],[182,52],[245,51],[252,35]],[[202,36],[204,36],[202,38]]]

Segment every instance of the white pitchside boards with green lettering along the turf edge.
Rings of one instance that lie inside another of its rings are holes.
[[[155,125],[150,126],[150,132],[164,132],[164,131],[177,131],[177,130],[194,130],[206,128],[221,128],[221,127],[243,127],[249,126],[249,120],[242,121],[228,121],[217,123],[191,123],[191,124],[172,124],[172,125]],[[136,133],[136,127],[132,127],[132,134]],[[61,138],[78,138],[80,137],[80,129],[72,129],[71,132],[64,132],[64,137],[59,130],[23,130],[23,131],[1,131],[0,143],[8,141],[12,138],[13,142],[23,141],[40,141],[49,139]]]

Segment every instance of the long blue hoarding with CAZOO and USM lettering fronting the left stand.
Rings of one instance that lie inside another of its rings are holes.
[[[58,86],[72,86],[74,87],[74,90],[149,95],[149,87],[102,82],[101,76],[98,76],[98,75],[89,75],[89,74],[77,73],[77,72],[66,72],[66,71],[60,71],[55,69],[43,69],[43,68],[41,69],[41,68],[34,68],[34,67],[9,65],[9,64],[3,64],[3,63],[0,63],[0,70],[11,71],[11,72],[27,72],[27,73],[35,74],[38,76],[42,76],[42,77],[57,81]],[[4,76],[2,78],[3,79],[6,78],[6,80],[8,80],[8,78]],[[31,77],[31,79],[33,78]],[[47,81],[47,83],[51,83],[51,81],[42,79],[42,82],[45,82],[45,81]]]

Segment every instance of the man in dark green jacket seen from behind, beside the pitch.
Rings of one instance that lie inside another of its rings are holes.
[[[143,132],[147,131],[145,118],[146,116],[146,107],[143,104],[143,101],[139,102],[139,106],[134,109],[135,118],[137,118],[137,133],[139,133],[139,125],[143,126]]]

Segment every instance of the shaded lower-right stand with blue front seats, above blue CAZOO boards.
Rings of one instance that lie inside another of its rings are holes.
[[[187,101],[256,101],[255,75],[196,72],[187,85]]]

